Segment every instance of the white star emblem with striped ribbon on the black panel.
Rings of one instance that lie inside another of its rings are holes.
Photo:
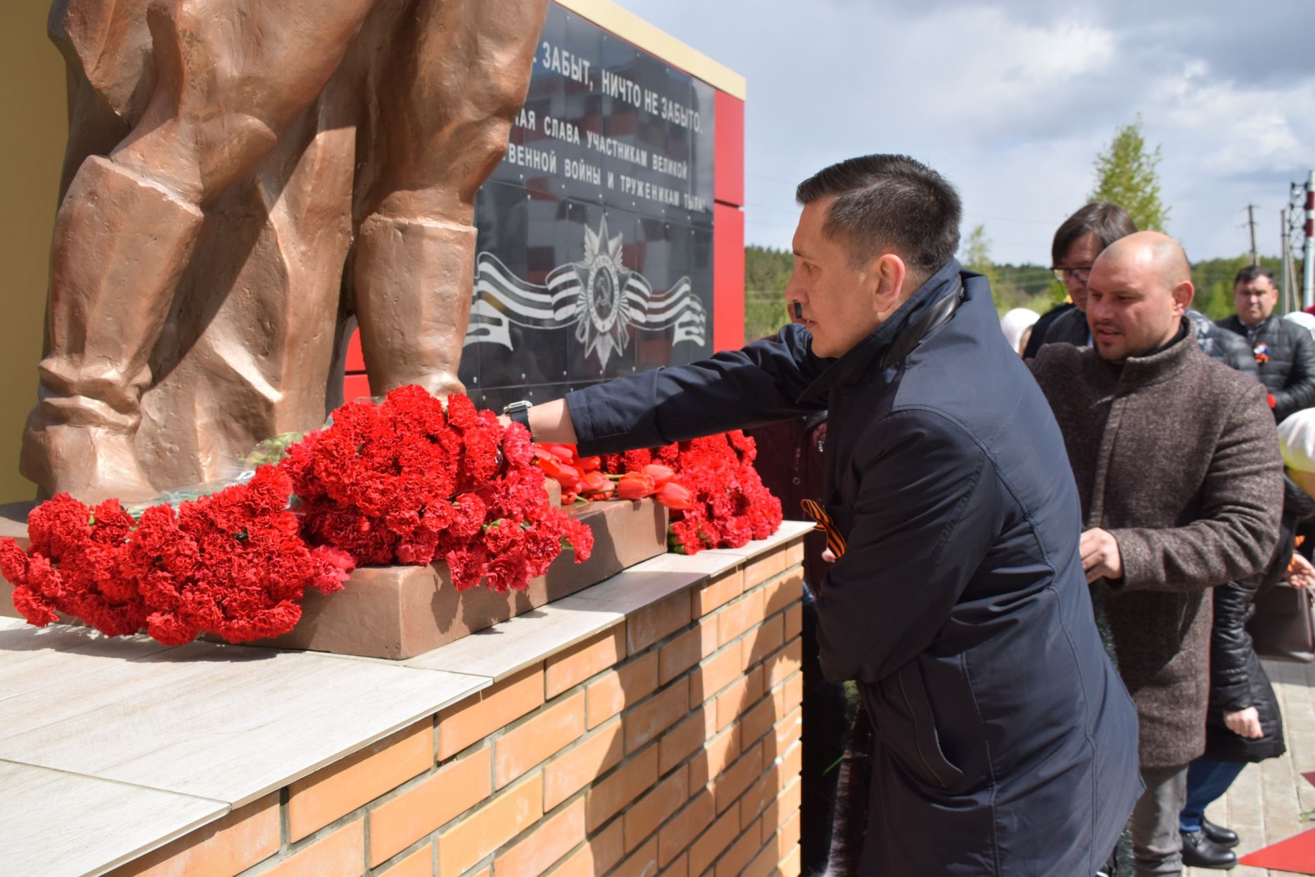
[[[601,368],[630,344],[633,330],[673,329],[672,344],[702,344],[707,313],[693,295],[689,277],[667,291],[622,263],[622,235],[608,237],[608,218],[598,231],[585,226],[584,259],[560,264],[544,283],[517,277],[492,252],[475,260],[475,301],[466,344],[489,343],[514,350],[510,325],[526,329],[575,327],[585,356]]]

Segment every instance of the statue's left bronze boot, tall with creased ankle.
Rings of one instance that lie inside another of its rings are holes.
[[[133,440],[149,356],[201,221],[195,204],[105,158],[79,168],[55,221],[50,352],[18,464],[45,494],[156,493]]]

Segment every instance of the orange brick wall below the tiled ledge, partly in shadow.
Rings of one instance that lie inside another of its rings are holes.
[[[112,877],[800,873],[798,540]]]

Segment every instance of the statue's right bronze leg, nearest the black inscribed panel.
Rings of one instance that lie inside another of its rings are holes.
[[[456,376],[473,293],[475,193],[525,103],[546,0],[422,0],[380,78],[352,283],[373,393]]]

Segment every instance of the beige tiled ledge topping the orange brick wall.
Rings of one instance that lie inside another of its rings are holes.
[[[401,664],[0,618],[0,874],[103,874],[810,527],[654,557]]]

